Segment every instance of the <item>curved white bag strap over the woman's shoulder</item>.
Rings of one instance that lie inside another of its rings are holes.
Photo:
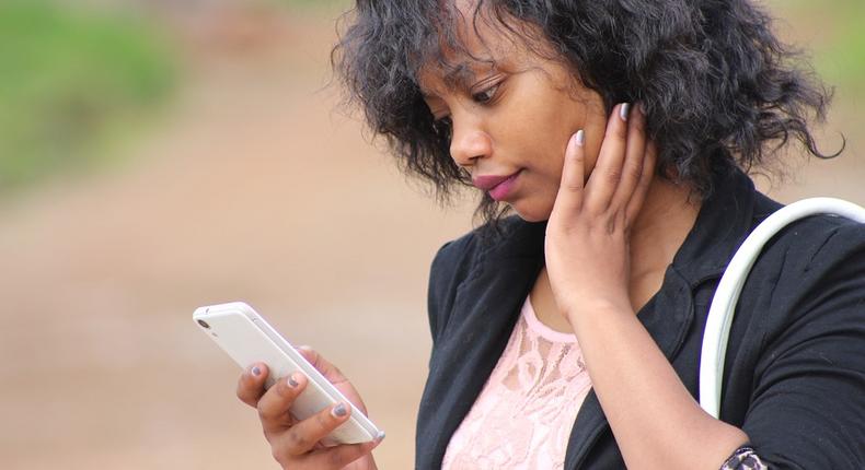
[[[852,202],[833,198],[803,199],[782,208],[758,225],[724,271],[708,308],[706,329],[703,333],[703,351],[700,355],[700,406],[712,416],[718,418],[720,412],[720,381],[724,375],[727,340],[739,293],[751,267],[763,245],[778,231],[792,222],[815,214],[840,215],[865,223],[865,209]]]

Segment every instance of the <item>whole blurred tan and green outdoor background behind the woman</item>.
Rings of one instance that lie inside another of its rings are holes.
[[[773,0],[835,86],[774,197],[865,203],[865,1]],[[336,109],[348,1],[0,0],[0,461],[276,468],[191,321],[245,299],[353,379],[411,468],[435,250],[471,227]]]

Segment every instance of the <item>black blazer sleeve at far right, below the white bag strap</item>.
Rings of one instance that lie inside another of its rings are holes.
[[[812,252],[773,293],[742,428],[772,469],[862,470],[865,226],[838,226]]]

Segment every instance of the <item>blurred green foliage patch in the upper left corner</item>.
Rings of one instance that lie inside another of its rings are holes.
[[[0,0],[0,191],[104,156],[169,95],[169,50],[140,19]]]

